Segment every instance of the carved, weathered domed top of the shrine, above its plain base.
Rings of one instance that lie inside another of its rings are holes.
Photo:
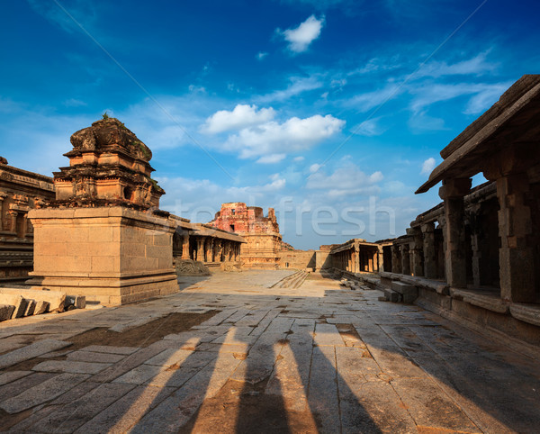
[[[94,122],[76,131],[71,144],[73,149],[64,154],[69,166],[54,173],[56,203],[159,207],[165,192],[151,178],[152,152],[122,122],[114,118]]]

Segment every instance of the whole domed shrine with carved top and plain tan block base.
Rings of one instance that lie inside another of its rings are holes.
[[[69,167],[54,174],[56,200],[29,213],[34,271],[28,283],[105,305],[178,290],[175,223],[150,175],[150,149],[114,118],[71,136]]]

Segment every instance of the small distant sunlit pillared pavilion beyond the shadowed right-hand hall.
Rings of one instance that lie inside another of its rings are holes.
[[[338,271],[355,273],[374,273],[383,270],[383,248],[391,242],[367,242],[353,239],[330,249],[332,266]]]

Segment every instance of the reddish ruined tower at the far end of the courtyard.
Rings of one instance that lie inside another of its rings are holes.
[[[222,231],[235,232],[245,244],[240,249],[243,267],[277,269],[282,236],[275,220],[273,208],[268,209],[268,217],[257,206],[246,203],[222,203],[220,212],[209,224]]]

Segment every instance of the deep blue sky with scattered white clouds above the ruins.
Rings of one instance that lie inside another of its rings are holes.
[[[11,165],[51,175],[106,111],[152,149],[161,208],[208,222],[222,202],[274,206],[297,249],[404,233],[439,202],[414,191],[440,149],[540,71],[532,1],[1,7]]]

